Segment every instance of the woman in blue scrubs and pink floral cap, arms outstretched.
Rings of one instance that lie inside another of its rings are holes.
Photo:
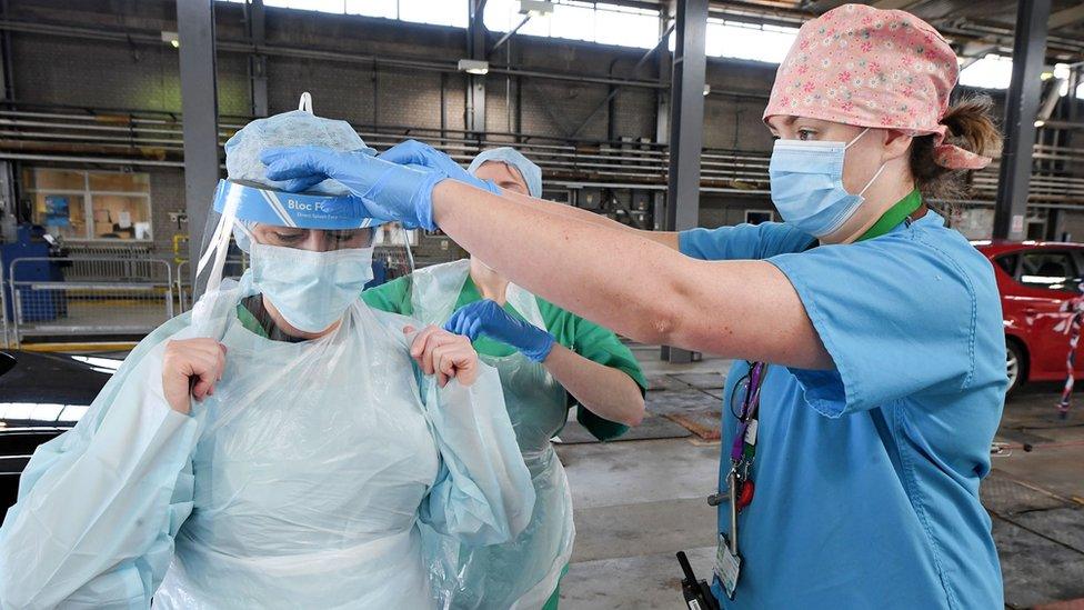
[[[978,486],[1007,384],[990,262],[930,198],[986,166],[982,102],[930,24],[845,4],[802,27],[764,112],[784,222],[642,233],[436,153],[269,153],[440,227],[533,293],[727,376],[712,590],[726,608],[1001,608]],[[426,169],[418,169],[423,164]],[[453,180],[444,179],[452,177]],[[524,204],[532,209],[524,210]]]

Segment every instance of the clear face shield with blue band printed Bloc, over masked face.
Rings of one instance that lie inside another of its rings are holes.
[[[413,270],[402,229],[374,226],[362,214],[349,197],[220,181],[198,263],[201,300],[240,286],[247,297],[259,297],[250,309],[278,329],[321,334],[362,290]],[[378,248],[379,240],[385,243]]]

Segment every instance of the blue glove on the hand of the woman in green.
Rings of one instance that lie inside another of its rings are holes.
[[[463,334],[471,341],[484,334],[512,346],[523,356],[541,362],[556,342],[549,332],[509,316],[495,301],[484,299],[463,306],[444,323],[444,330]]]

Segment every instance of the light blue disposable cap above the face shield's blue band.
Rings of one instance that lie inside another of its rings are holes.
[[[350,123],[322,119],[304,110],[292,110],[267,119],[257,119],[241,128],[225,142],[225,172],[230,180],[282,189],[284,182],[268,180],[267,166],[260,154],[277,147],[318,146],[340,152],[377,151],[365,146]],[[324,194],[349,194],[335,180],[324,180],[309,189]]]

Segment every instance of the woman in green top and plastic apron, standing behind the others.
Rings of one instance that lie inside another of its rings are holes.
[[[468,172],[510,192],[542,194],[542,170],[511,148],[483,151]],[[579,421],[600,440],[640,423],[646,383],[632,352],[612,331],[535,298],[476,257],[428,267],[363,298],[373,308],[460,331],[474,342],[482,360],[500,371],[534,483],[531,523],[515,540],[474,549],[448,537],[426,540],[432,572],[444,581],[434,588],[440,606],[556,608],[575,528],[564,468],[550,439],[575,404]],[[458,328],[463,320],[471,328]]]

